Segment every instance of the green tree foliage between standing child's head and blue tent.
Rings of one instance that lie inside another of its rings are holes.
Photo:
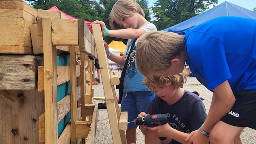
[[[158,30],[176,25],[209,9],[218,0],[158,0],[152,8]]]

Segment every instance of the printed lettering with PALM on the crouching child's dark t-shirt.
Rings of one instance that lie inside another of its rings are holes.
[[[176,114],[169,114],[167,113],[167,117],[168,119],[171,119],[171,122],[168,122],[168,124],[174,128],[177,129],[178,131],[182,131],[184,133],[191,133],[191,131],[186,128],[186,125],[182,122],[182,120],[180,120]]]

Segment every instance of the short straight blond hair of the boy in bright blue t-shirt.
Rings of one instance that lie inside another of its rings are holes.
[[[166,72],[171,59],[185,50],[184,36],[173,32],[151,31],[137,41],[136,63],[144,76]]]

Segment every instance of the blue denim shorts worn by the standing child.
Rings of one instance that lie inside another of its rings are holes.
[[[128,112],[128,121],[134,121],[139,113],[145,112],[148,114],[148,105],[155,96],[156,94],[150,91],[124,92],[121,101],[121,112]],[[137,126],[135,123],[128,123],[128,128]]]

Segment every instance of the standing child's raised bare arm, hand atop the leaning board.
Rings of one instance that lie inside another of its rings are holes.
[[[103,21],[93,21],[90,24],[100,24],[101,31],[103,32],[106,29],[106,25]],[[134,38],[139,38],[142,34],[145,34],[146,31],[143,29],[119,29],[119,30],[109,30],[109,33],[107,36],[115,37],[115,38],[123,38],[123,39],[134,39]]]

